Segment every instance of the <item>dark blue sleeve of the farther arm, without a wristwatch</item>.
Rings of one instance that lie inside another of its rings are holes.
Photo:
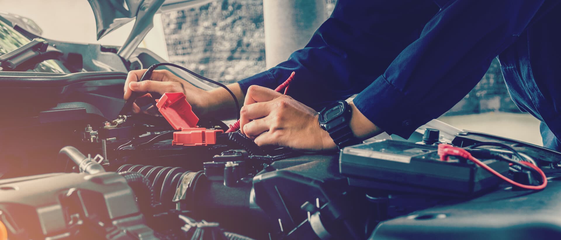
[[[296,72],[289,95],[312,108],[360,93],[419,38],[439,7],[431,0],[339,0],[309,43],[277,66],[238,83],[274,89]]]

